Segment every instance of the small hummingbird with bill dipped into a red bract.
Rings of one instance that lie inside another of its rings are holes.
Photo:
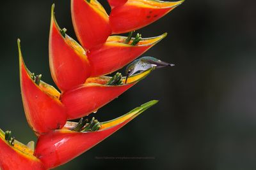
[[[159,59],[156,59],[154,57],[141,57],[140,59],[136,59],[131,64],[129,64],[125,69],[126,79],[125,83],[127,82],[127,79],[132,74],[137,73],[138,71],[143,72],[148,69],[151,69],[152,67],[161,68],[166,66],[175,66],[174,64],[170,64],[168,62],[161,61]]]

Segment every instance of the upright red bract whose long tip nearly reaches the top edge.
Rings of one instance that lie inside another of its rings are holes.
[[[84,83],[90,76],[90,64],[83,47],[60,29],[52,4],[49,36],[49,62],[54,82],[61,91]]]

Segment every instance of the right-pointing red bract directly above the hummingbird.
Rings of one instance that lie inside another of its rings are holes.
[[[91,76],[109,74],[124,67],[156,45],[166,34],[153,38],[141,38],[136,45],[131,45],[134,38],[126,43],[127,37],[109,36],[106,43],[91,48],[87,53],[91,64]]]

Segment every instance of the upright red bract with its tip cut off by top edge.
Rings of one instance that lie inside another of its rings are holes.
[[[71,0],[71,15],[77,39],[86,49],[104,43],[111,34],[108,14],[96,0]]]

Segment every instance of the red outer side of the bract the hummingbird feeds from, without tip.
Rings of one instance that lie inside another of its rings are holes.
[[[61,96],[61,102],[67,108],[68,120],[84,117],[109,103],[116,96],[119,96],[125,90],[132,87],[130,85],[122,86],[104,86],[100,84],[86,83],[69,90]]]

